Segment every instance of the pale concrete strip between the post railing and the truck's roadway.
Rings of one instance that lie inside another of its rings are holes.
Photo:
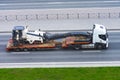
[[[11,31],[14,26],[28,26],[31,30],[81,30],[92,29],[93,24],[102,24],[107,29],[120,29],[120,19],[67,19],[25,20],[0,22],[0,31]]]

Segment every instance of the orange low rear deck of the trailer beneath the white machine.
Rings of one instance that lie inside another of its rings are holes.
[[[41,43],[41,44],[20,44],[18,46],[13,45],[12,39],[8,41],[6,51],[36,51],[36,50],[42,50],[42,49],[54,49],[56,48],[56,42],[49,41],[47,43]]]

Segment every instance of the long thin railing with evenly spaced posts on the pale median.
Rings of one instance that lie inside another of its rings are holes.
[[[111,18],[120,18],[120,12],[119,13],[0,15],[0,21],[59,20],[59,19],[111,19]]]

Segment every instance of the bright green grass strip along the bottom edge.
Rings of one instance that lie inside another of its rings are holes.
[[[0,69],[0,80],[120,80],[120,67]]]

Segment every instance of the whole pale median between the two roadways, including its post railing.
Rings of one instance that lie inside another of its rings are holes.
[[[94,23],[120,28],[120,8],[4,10],[0,14],[0,31],[20,25],[32,30],[80,30],[91,29]]]

